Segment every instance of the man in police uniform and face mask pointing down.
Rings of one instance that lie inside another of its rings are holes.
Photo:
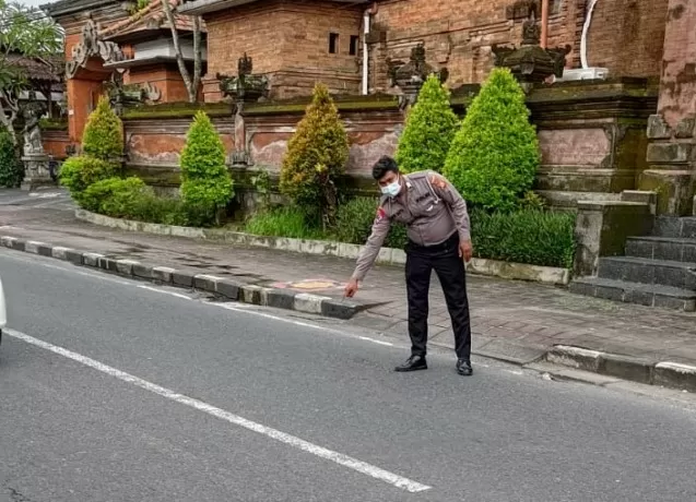
[[[455,331],[457,372],[469,376],[471,368],[471,323],[467,298],[464,260],[471,260],[467,203],[443,176],[433,172],[401,175],[390,157],[380,158],[373,167],[373,177],[384,194],[373,231],[357,259],[357,266],[345,286],[345,296],[353,297],[368,270],[375,263],[392,222],[406,226],[406,289],[409,299],[409,335],[411,357],[397,371],[427,369],[428,291],[435,270]]]

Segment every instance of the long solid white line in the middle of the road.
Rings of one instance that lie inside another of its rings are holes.
[[[225,411],[224,409],[216,408],[215,406],[209,405],[208,403],[203,403],[202,401],[193,399],[192,397],[178,394],[175,391],[172,391],[169,389],[160,386],[152,382],[148,382],[146,380],[140,379],[130,373],[126,373],[125,371],[120,371],[120,370],[117,370],[116,368],[111,368],[110,366],[104,364],[99,361],[95,361],[94,359],[91,359],[86,356],[82,356],[80,354],[73,352],[62,347],[58,347],[56,345],[49,344],[38,338],[34,338],[33,336],[25,335],[24,333],[20,333],[15,330],[4,330],[4,333],[7,333],[9,336],[12,336],[13,338],[21,339],[22,342],[25,342],[35,347],[39,347],[45,350],[57,354],[59,356],[62,356],[64,358],[71,359],[75,362],[84,364],[94,370],[101,371],[102,373],[108,374],[109,376],[118,379],[122,382],[130,383],[140,389],[144,389],[145,391],[152,392],[153,394],[157,394],[175,403],[198,409],[199,411],[203,411],[210,416],[216,417],[234,426],[243,427],[252,432],[266,435],[267,438],[273,439],[281,443],[284,443],[290,446],[302,450],[304,452],[310,453],[311,455],[318,456],[327,461],[331,461],[343,467],[347,467],[361,474],[370,476],[375,479],[379,479],[381,481],[385,481],[389,485],[392,485],[408,492],[417,493],[421,491],[429,490],[432,488],[432,487],[428,487],[427,485],[422,485],[420,482],[401,477],[399,475],[381,469],[374,465],[367,464],[365,462],[358,461],[347,455],[343,455],[342,453],[338,453],[338,452],[325,449],[322,446],[318,446],[316,444],[312,444],[308,441],[302,440],[294,435],[286,434],[285,432],[281,432],[276,429],[272,429],[261,423],[247,420],[246,418],[231,414],[229,411]]]

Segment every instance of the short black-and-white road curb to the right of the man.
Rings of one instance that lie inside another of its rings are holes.
[[[546,352],[544,359],[554,364],[605,376],[696,392],[696,366],[623,356],[568,345],[554,346]]]

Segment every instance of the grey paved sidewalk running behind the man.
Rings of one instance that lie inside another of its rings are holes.
[[[96,227],[78,220],[67,207],[0,206],[0,235],[334,298],[342,296],[342,285],[354,266],[353,261],[330,256]],[[316,282],[307,284],[308,279]],[[469,277],[469,296],[473,347],[479,355],[527,363],[563,345],[629,356],[652,364],[671,361],[696,366],[694,313],[614,303],[552,286],[475,276]],[[357,300],[365,310],[350,323],[408,339],[403,270],[376,266]],[[430,340],[446,347],[453,342],[435,276]]]

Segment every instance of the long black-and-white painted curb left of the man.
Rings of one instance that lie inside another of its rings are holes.
[[[349,320],[361,310],[358,303],[347,300],[295,292],[288,289],[261,287],[231,278],[175,270],[168,266],[150,265],[133,260],[118,260],[99,253],[79,251],[12,236],[0,236],[0,242],[2,247],[14,251],[52,258],[123,277],[180,288],[192,288],[243,303],[294,310],[341,320]]]

